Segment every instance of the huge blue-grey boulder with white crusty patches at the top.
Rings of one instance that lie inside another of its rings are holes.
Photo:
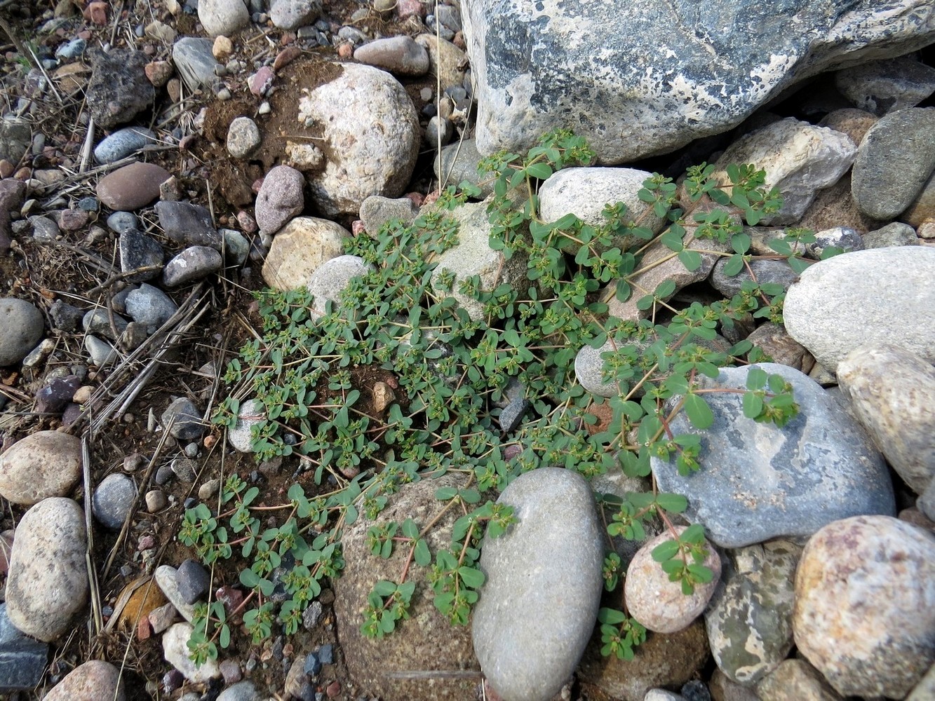
[[[931,43],[930,0],[464,0],[482,153],[570,127],[604,164],[736,126],[822,71]]]

